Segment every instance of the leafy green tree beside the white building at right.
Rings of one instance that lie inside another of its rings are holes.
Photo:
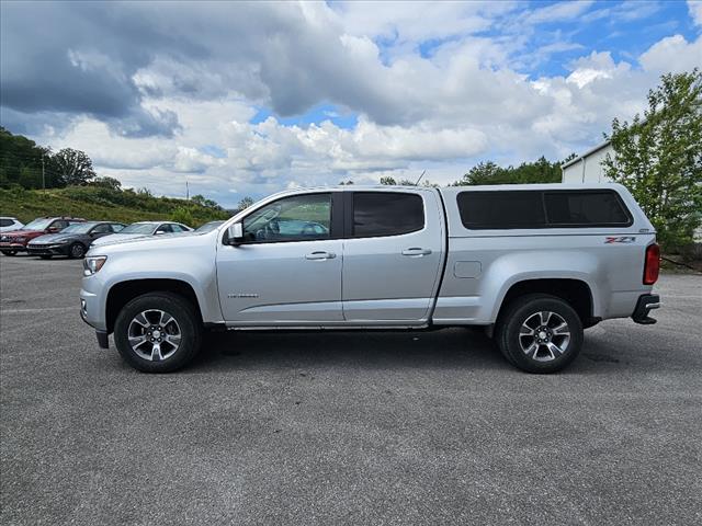
[[[626,186],[664,248],[692,242],[702,221],[702,73],[668,73],[632,123],[614,118],[605,174]]]

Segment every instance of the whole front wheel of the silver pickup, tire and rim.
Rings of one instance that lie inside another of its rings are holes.
[[[195,357],[201,324],[194,307],[169,293],[150,293],[129,301],[114,325],[122,357],[144,373],[170,373]]]

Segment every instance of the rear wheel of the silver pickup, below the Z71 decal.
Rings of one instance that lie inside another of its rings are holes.
[[[551,315],[542,317],[540,312]],[[547,320],[545,324],[544,319]],[[566,323],[565,328],[563,322]],[[535,329],[532,334],[520,334],[525,323],[524,331],[529,332],[529,328]],[[541,340],[540,335],[545,338]],[[516,367],[528,373],[556,373],[580,353],[582,322],[567,301],[546,294],[530,294],[507,306],[507,310],[500,316],[496,336],[500,351]],[[535,352],[529,351],[531,348],[535,348]]]

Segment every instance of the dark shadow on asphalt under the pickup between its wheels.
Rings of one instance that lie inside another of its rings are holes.
[[[483,331],[325,331],[212,333],[184,373],[211,369],[350,366],[356,368],[509,369]]]

